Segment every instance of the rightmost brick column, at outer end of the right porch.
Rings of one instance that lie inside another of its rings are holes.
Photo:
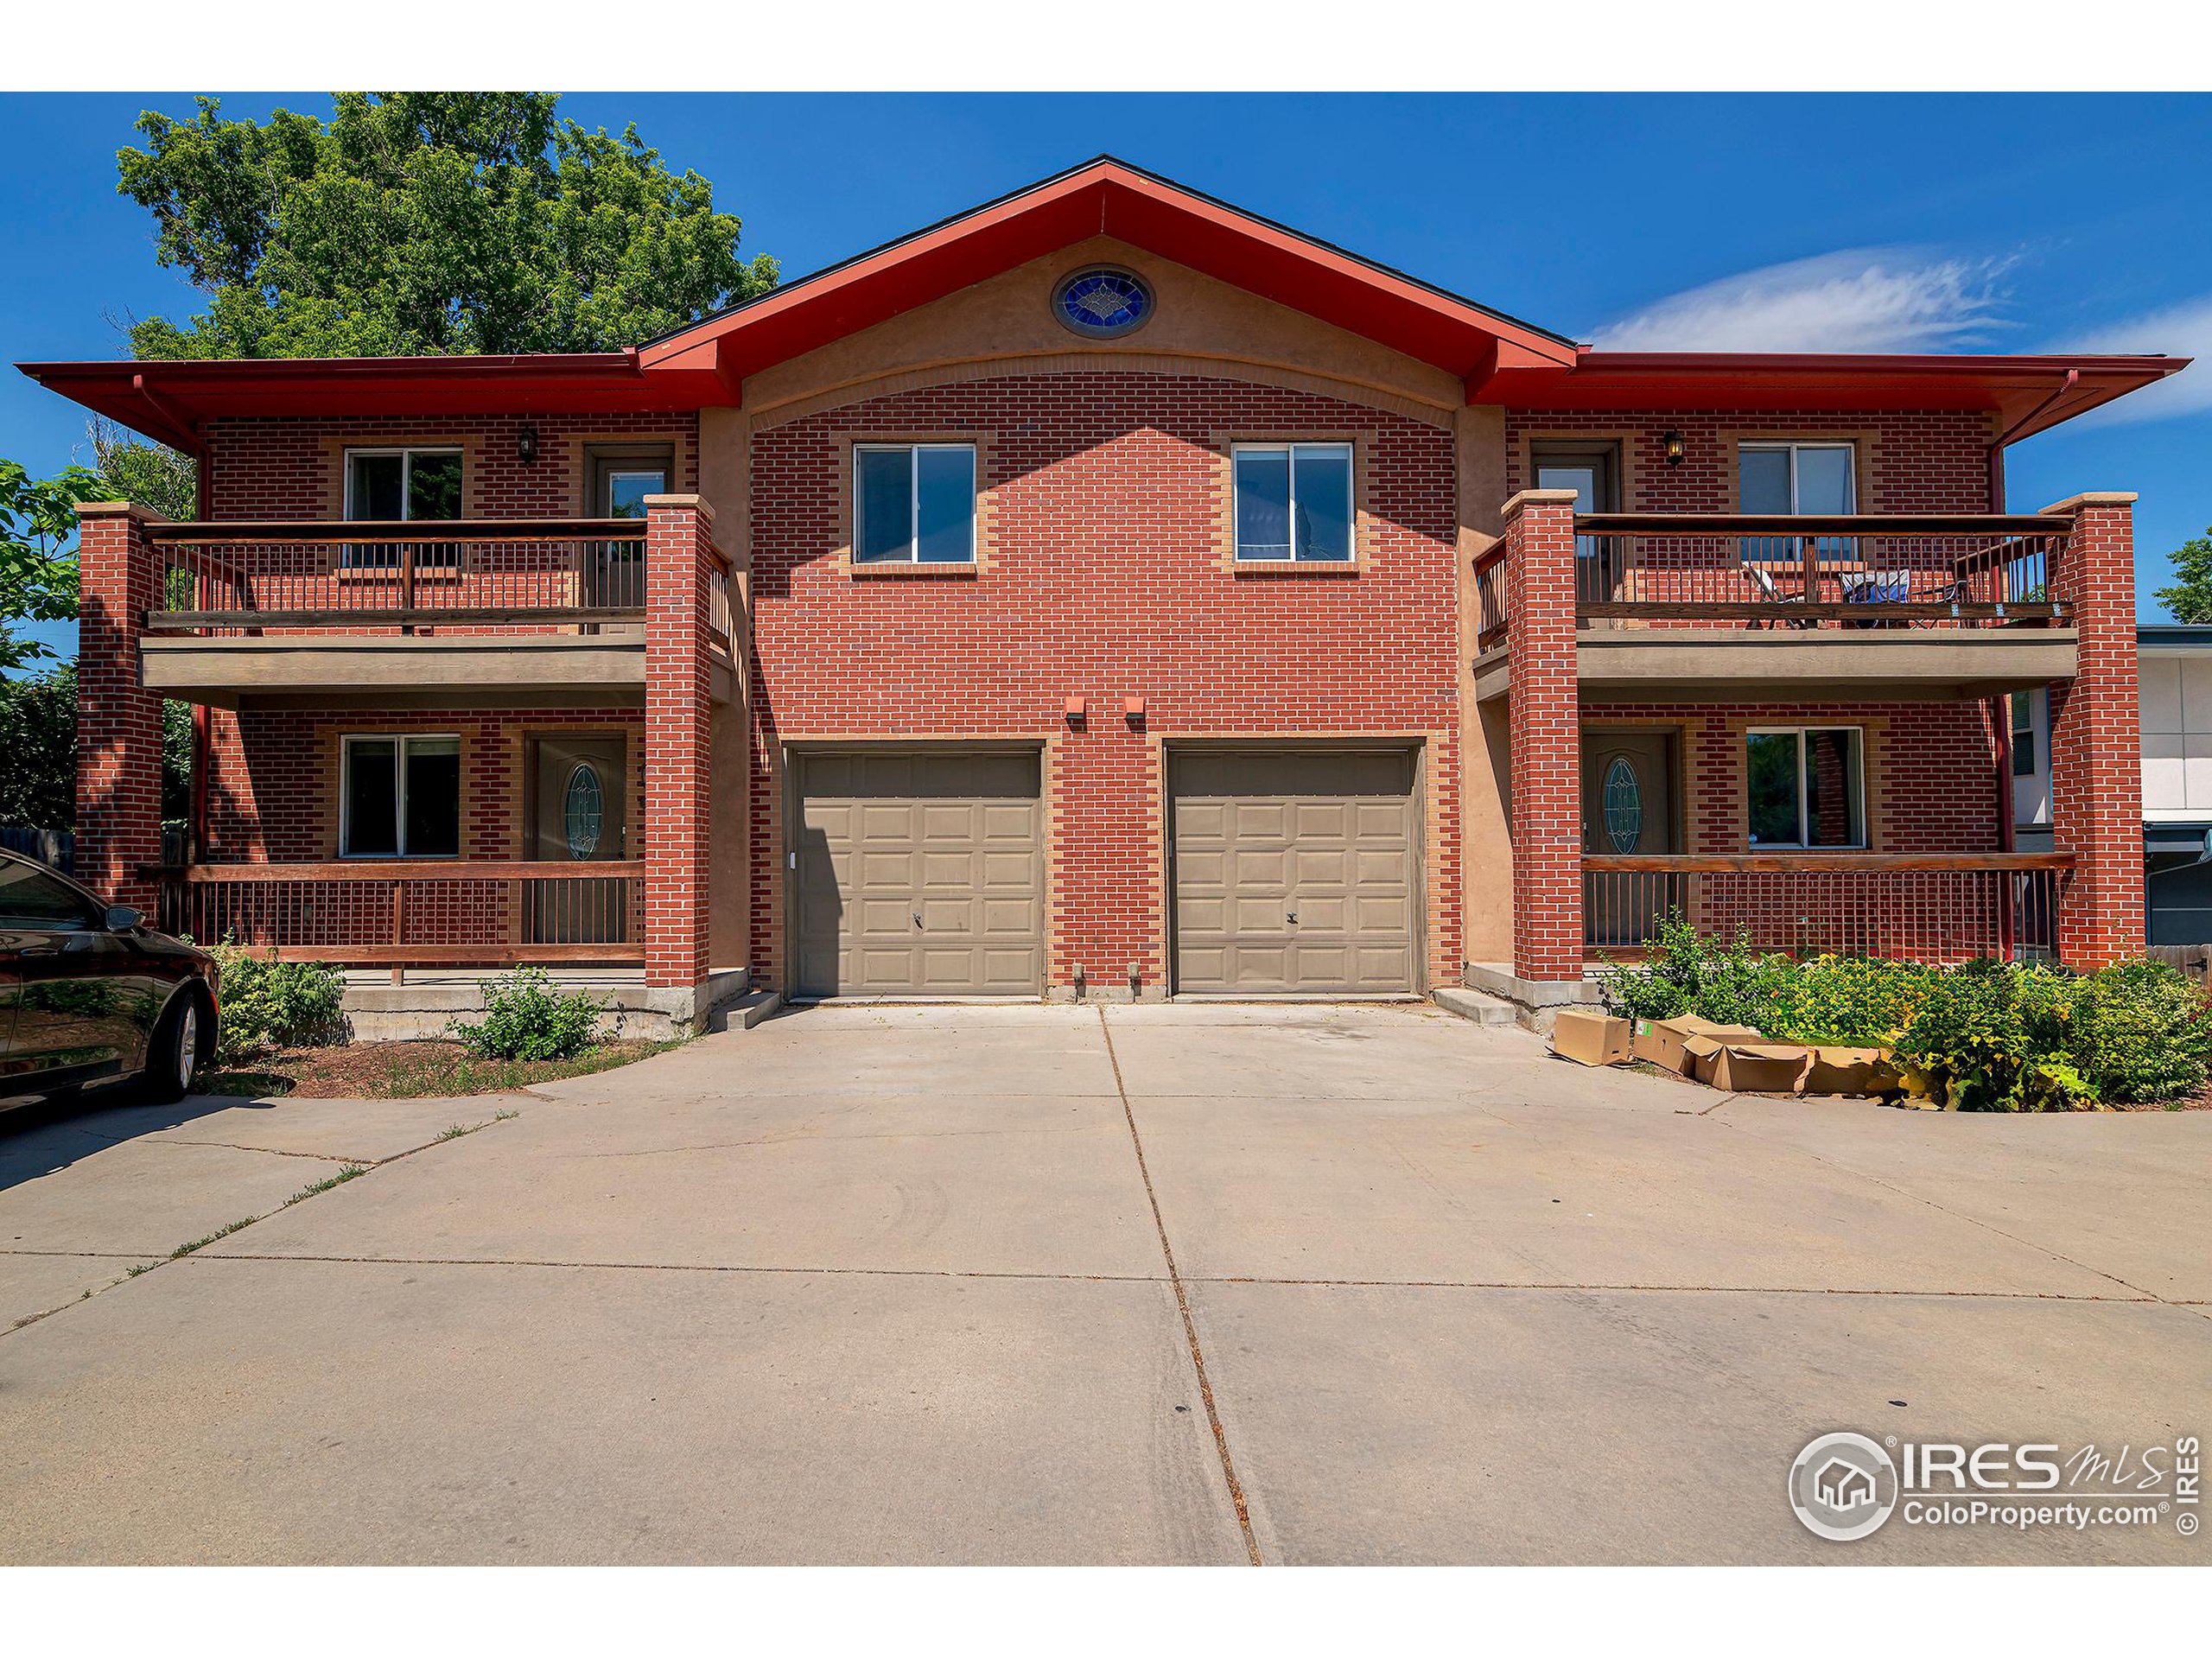
[[[2075,495],[2051,586],[2081,639],[2051,686],[2051,830],[2075,856],[2059,891],[2059,960],[2099,969],[2143,953],[2143,726],[2135,692],[2135,495]]]

